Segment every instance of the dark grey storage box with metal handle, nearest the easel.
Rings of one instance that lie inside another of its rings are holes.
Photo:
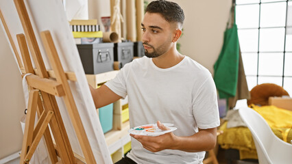
[[[77,44],[86,74],[98,74],[114,70],[114,44]]]

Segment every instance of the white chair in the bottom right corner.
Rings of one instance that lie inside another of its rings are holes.
[[[292,163],[292,144],[279,139],[259,113],[244,107],[239,114],[252,132],[260,164]]]

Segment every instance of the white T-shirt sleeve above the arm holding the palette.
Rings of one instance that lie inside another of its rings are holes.
[[[220,125],[217,91],[211,75],[197,90],[193,89],[193,115],[198,128]]]

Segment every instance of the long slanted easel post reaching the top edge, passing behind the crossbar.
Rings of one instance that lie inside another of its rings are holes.
[[[32,28],[32,23],[29,20],[29,16],[25,8],[25,3],[23,0],[14,0],[14,3],[21,20],[21,24],[23,25],[25,36],[27,37],[27,42],[29,44],[30,52],[32,53],[32,58],[34,59],[36,68],[39,71],[39,76],[42,78],[48,78],[49,75],[42,60],[42,55],[40,54],[38,42],[36,41],[36,36]],[[64,122],[62,120],[56,98],[55,96],[47,94],[46,92],[41,92],[41,94],[45,111],[53,110],[55,113],[49,124],[51,126],[56,144],[58,145],[58,149],[60,150],[60,158],[62,161],[64,161],[64,163],[75,163],[73,150],[71,148],[68,135],[66,134],[66,129],[64,128]]]

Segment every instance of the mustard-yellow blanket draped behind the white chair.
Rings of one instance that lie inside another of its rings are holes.
[[[275,135],[280,139],[290,143],[292,139],[292,111],[280,109],[273,105],[258,107],[250,105],[252,109],[260,113],[265,118]],[[224,149],[239,150],[240,159],[258,159],[256,147],[252,139],[250,130],[246,127],[226,128],[227,122],[224,122],[220,130],[222,135],[218,136],[218,143]]]

